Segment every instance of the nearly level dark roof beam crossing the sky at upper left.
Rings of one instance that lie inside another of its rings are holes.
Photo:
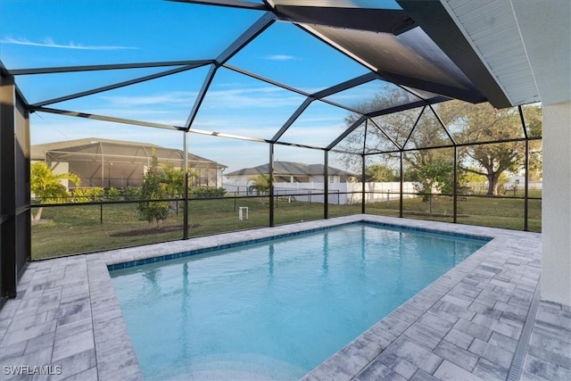
[[[9,70],[9,72],[14,76],[19,76],[19,75],[31,75],[31,74],[69,73],[75,71],[160,68],[162,66],[186,66],[186,65],[203,66],[213,62],[214,60],[114,63],[108,65],[62,66],[62,67],[38,68],[38,69],[14,69],[14,70]]]

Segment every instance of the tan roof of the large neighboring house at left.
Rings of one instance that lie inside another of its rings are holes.
[[[184,157],[184,152],[175,148],[166,148],[161,145],[151,143],[129,142],[124,140],[103,139],[101,137],[87,137],[83,139],[66,140],[61,142],[46,143],[43,145],[32,145],[30,159],[35,161],[46,160],[46,155],[76,155],[90,154],[107,156],[113,161],[120,157],[143,157],[153,156],[152,148],[155,151],[159,162],[180,162]],[[79,157],[75,157],[79,160]],[[195,164],[214,164],[219,168],[227,168],[226,165],[211,161],[210,159],[188,153],[188,160]]]

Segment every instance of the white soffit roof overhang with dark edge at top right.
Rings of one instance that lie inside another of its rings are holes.
[[[493,106],[569,102],[571,2],[397,1]]]

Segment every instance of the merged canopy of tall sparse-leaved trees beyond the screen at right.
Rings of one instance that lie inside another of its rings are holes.
[[[410,95],[397,87],[382,87],[380,92],[371,101],[365,102],[357,108],[370,112],[381,110],[388,105],[403,104]],[[496,110],[490,104],[468,104],[461,101],[449,101],[435,104],[435,112],[443,120],[451,136],[457,143],[498,142],[501,140],[524,137],[524,129],[516,108]],[[447,131],[442,127],[440,120],[430,109],[420,115],[418,109],[395,112],[374,118],[377,126],[357,128],[343,141],[343,150],[347,152],[343,159],[346,165],[358,168],[360,153],[380,152],[386,157],[400,157],[401,149],[407,150],[403,155],[404,172],[415,175],[418,181],[423,181],[423,189],[432,189],[430,183],[439,183],[443,178],[451,181],[453,178],[454,157],[451,149],[426,149],[435,146],[453,145]],[[347,125],[352,125],[360,115],[350,114],[346,118]],[[525,119],[528,134],[532,137],[541,136],[541,108],[537,105],[525,108]],[[416,123],[416,127],[415,126]],[[367,139],[365,139],[367,134]],[[388,137],[386,137],[386,136]],[[363,142],[375,142],[374,146],[363,147]],[[530,141],[530,175],[537,178],[541,173],[541,142]],[[369,156],[374,157],[374,156]],[[503,173],[517,172],[523,167],[525,161],[525,144],[523,142],[506,142],[485,145],[467,145],[459,149],[459,175],[469,171],[484,176],[488,180],[488,195],[498,195],[499,181]],[[435,170],[434,162],[438,163]],[[445,176],[443,170],[448,171]],[[435,176],[432,178],[418,177]],[[409,181],[412,178],[407,178]],[[443,186],[443,188],[450,188]]]

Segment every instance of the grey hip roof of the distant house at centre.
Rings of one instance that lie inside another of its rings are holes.
[[[356,176],[352,172],[339,170],[334,167],[327,167],[329,176]],[[305,164],[302,162],[274,162],[274,175],[302,175],[302,176],[319,176],[323,175],[323,164]],[[244,175],[261,175],[269,174],[269,162],[252,168],[244,168],[235,170],[225,174],[225,176],[244,176]]]

